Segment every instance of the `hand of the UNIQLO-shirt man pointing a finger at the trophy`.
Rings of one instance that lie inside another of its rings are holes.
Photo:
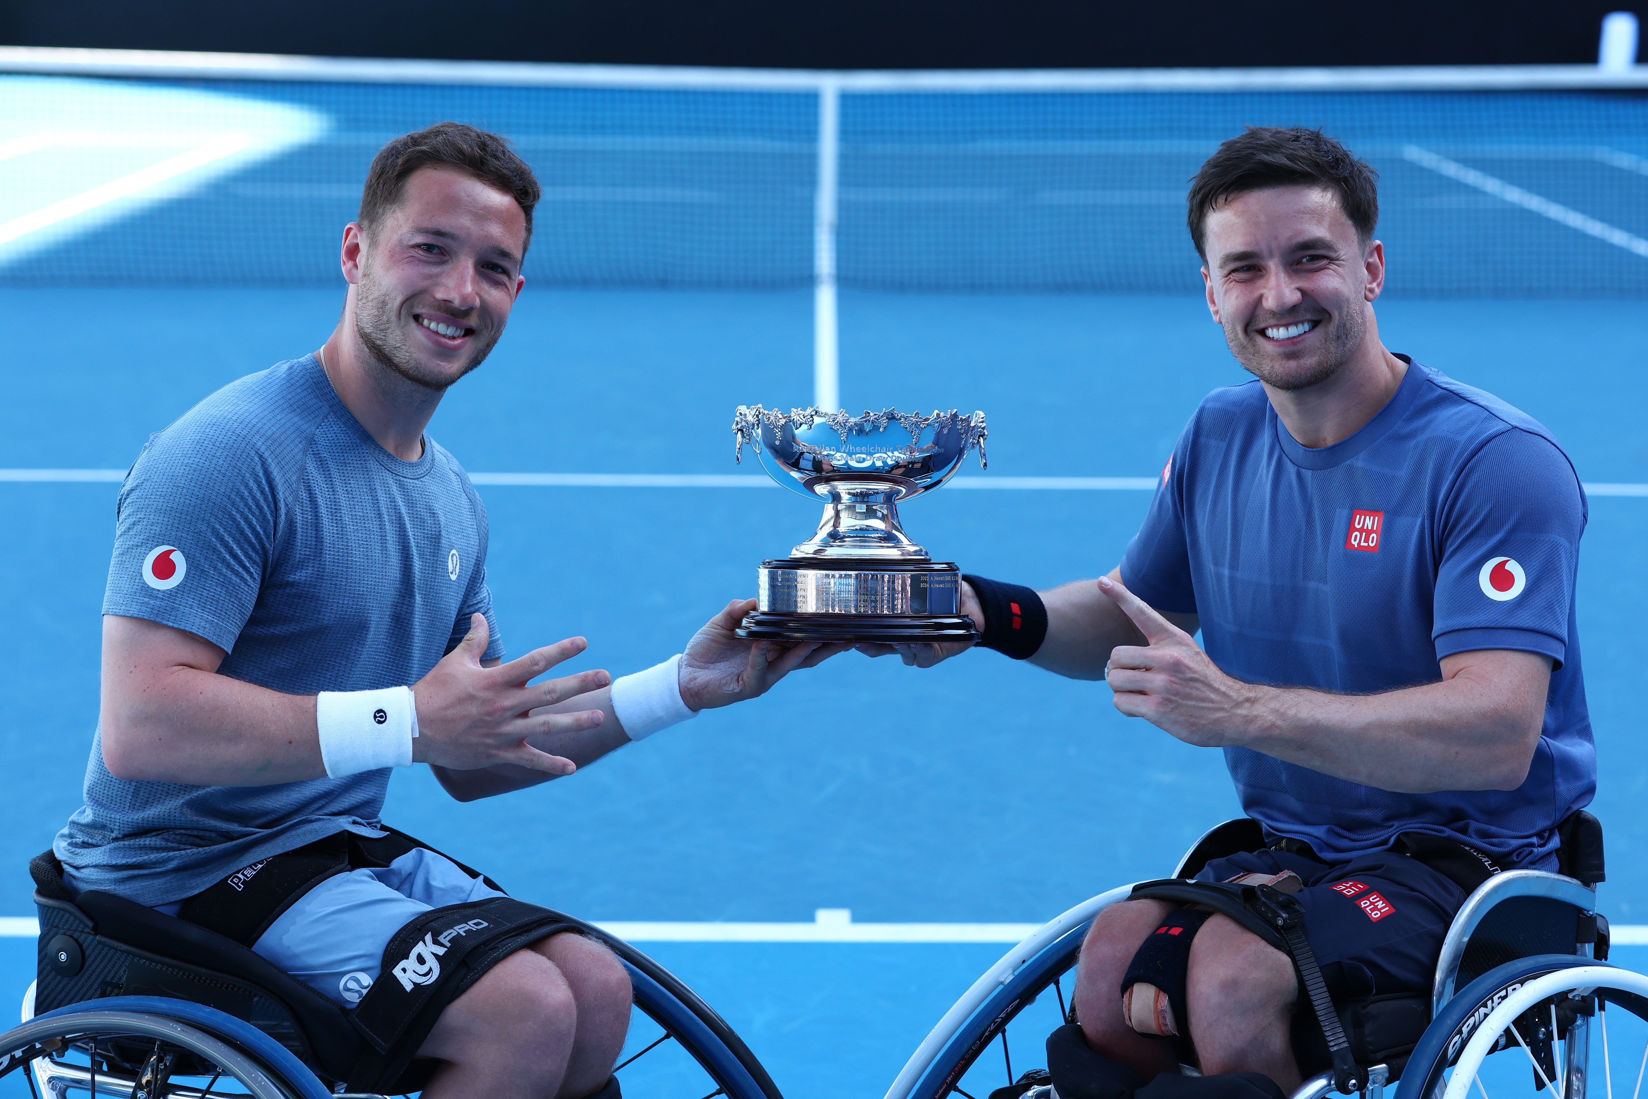
[[[1221,672],[1195,639],[1167,621],[1119,580],[1099,578],[1099,592],[1139,628],[1145,644],[1111,651],[1104,680],[1116,709],[1142,717],[1185,743],[1223,748],[1231,732],[1252,723],[1257,689]]]

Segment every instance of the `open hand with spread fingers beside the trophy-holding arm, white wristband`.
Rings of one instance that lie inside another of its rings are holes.
[[[567,638],[508,664],[481,667],[488,636],[486,616],[471,615],[470,633],[458,648],[412,685],[419,725],[412,758],[453,771],[514,763],[545,774],[572,774],[577,769],[572,760],[539,751],[526,738],[595,728],[602,723],[602,712],[532,710],[598,690],[611,682],[611,676],[597,669],[527,685],[555,664],[583,652],[588,643]]]

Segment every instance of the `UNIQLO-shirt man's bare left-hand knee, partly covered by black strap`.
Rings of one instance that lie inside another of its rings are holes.
[[[1101,911],[1081,944],[1081,967],[1071,997],[1088,1045],[1145,1079],[1172,1071],[1177,1061],[1172,1045],[1145,1038],[1122,1018],[1122,977],[1139,944],[1175,908],[1167,901],[1122,901]]]

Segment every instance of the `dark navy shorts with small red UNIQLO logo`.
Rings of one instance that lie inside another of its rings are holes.
[[[1442,939],[1465,890],[1417,858],[1396,852],[1323,863],[1309,855],[1257,850],[1215,858],[1198,882],[1292,870],[1305,888],[1305,938],[1337,997],[1429,992]]]

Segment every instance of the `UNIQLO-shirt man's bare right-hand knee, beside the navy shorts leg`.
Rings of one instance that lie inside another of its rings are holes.
[[[1083,952],[1086,957],[1086,952]],[[1299,1087],[1290,1023],[1294,964],[1228,916],[1210,916],[1190,944],[1185,1007],[1203,1073],[1264,1073]]]

